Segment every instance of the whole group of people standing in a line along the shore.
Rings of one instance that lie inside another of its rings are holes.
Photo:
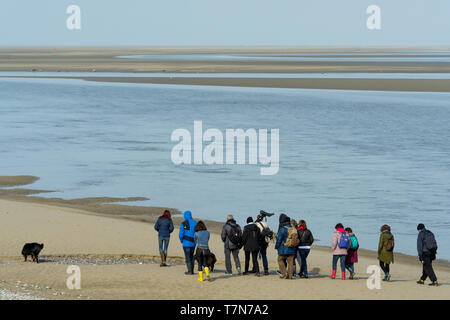
[[[282,279],[293,279],[297,276],[307,279],[308,264],[307,257],[310,253],[314,237],[308,229],[305,220],[298,223],[289,218],[286,214],[280,214],[279,227],[276,235],[267,225],[267,213],[261,211],[253,220],[247,218],[247,224],[243,229],[237,224],[232,215],[227,216],[221,232],[224,243],[226,274],[232,275],[233,268],[231,257],[233,257],[238,275],[255,276],[269,275],[269,264],[267,260],[267,248],[269,243],[276,236],[275,249],[278,252],[277,273]],[[271,215],[271,214],[269,214]],[[166,210],[155,224],[158,231],[159,251],[161,255],[161,266],[167,266],[167,249],[170,234],[174,230],[174,225],[170,212]],[[436,259],[437,243],[431,231],[425,229],[423,224],[417,226],[419,232],[417,238],[417,251],[419,260],[423,264],[422,276],[418,284],[424,284],[427,278],[431,280],[431,286],[437,286],[437,278],[433,270],[432,261]],[[210,233],[203,221],[195,221],[190,211],[184,212],[184,221],[181,223],[179,240],[183,246],[187,271],[185,274],[194,274],[195,260],[198,263],[199,281],[211,280],[211,251],[209,249]],[[239,259],[240,250],[244,250],[245,265],[244,272],[241,269]],[[354,279],[355,263],[358,262],[359,241],[352,228],[341,223],[336,224],[335,232],[331,242],[332,250],[332,272],[331,279],[336,278],[337,264],[340,263],[341,279],[346,279],[346,270],[349,271],[349,279]],[[195,259],[194,259],[195,257]],[[262,260],[262,270],[260,269],[258,257]],[[252,269],[250,270],[250,258]],[[378,244],[378,260],[380,268],[384,272],[383,281],[390,281],[390,265],[394,263],[394,236],[389,225],[383,225],[380,229],[380,239]],[[299,273],[296,272],[296,261],[299,265]]]

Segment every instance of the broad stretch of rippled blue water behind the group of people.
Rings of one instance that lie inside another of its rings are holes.
[[[425,223],[450,259],[450,94],[0,79],[1,175],[36,175],[48,197],[146,196],[241,224],[260,209],[308,221],[319,244],[351,226],[376,249],[390,224],[415,254]],[[173,130],[279,128],[280,171],[175,166]],[[277,227],[277,218],[269,220]]]

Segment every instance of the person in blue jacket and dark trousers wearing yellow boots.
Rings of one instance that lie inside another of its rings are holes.
[[[211,276],[209,274],[209,264],[208,259],[211,255],[209,251],[209,231],[206,229],[206,225],[203,221],[199,221],[195,226],[194,241],[197,249],[195,251],[195,256],[198,262],[198,281],[203,281],[203,271],[208,281],[211,281]]]

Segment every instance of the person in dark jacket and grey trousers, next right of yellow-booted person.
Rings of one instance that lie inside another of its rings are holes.
[[[226,274],[233,274],[233,269],[231,266],[231,255],[233,255],[238,275],[241,275],[242,273],[241,262],[239,261],[239,249],[242,248],[242,230],[231,214],[227,216],[227,222],[222,228],[221,237],[222,241],[224,242],[225,268],[227,270]]]

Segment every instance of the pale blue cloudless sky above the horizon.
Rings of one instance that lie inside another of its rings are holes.
[[[69,30],[70,5],[81,29]],[[369,30],[367,7],[381,10]],[[1,46],[450,46],[449,0],[1,0]]]

